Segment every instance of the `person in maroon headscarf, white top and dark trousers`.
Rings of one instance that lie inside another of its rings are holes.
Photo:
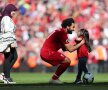
[[[6,84],[12,84],[10,78],[10,70],[17,60],[17,43],[15,37],[16,26],[12,18],[16,18],[17,8],[13,4],[8,4],[0,17],[0,52],[4,54],[3,74],[0,75],[0,80]]]

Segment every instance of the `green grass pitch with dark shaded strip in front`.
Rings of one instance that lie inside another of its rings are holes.
[[[0,90],[108,90],[108,73],[95,74],[94,83],[89,85],[74,85],[76,74],[64,73],[61,85],[49,84],[52,73],[12,73],[14,85],[4,85],[0,82]]]

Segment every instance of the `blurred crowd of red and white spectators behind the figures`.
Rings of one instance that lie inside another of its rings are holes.
[[[68,17],[74,18],[77,29],[86,28],[90,33],[93,51],[88,59],[89,71],[108,72],[108,0],[0,0],[0,12],[8,3],[19,9],[18,18],[14,19],[18,59],[13,72],[54,72],[56,68],[40,58],[40,49],[45,38]],[[70,43],[75,38],[75,32],[69,35]],[[77,72],[76,51],[64,54],[71,59],[66,72]],[[0,71],[3,61],[1,53]]]

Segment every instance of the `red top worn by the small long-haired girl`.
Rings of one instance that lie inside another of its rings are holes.
[[[83,38],[82,36],[80,38]],[[80,46],[77,50],[78,58],[87,57],[88,58],[88,49],[85,44]]]

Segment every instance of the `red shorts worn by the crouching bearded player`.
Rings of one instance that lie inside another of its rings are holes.
[[[56,66],[58,64],[61,64],[62,61],[65,60],[66,56],[60,52],[50,51],[50,52],[45,52],[44,54],[41,54],[41,58],[47,63],[50,63],[53,66]]]

